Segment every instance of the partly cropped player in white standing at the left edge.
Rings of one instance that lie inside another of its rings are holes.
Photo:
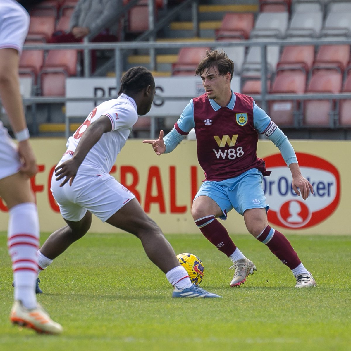
[[[0,1],[0,97],[18,146],[0,121],[0,196],[9,209],[8,252],[12,260],[14,304],[10,320],[40,333],[58,334],[55,323],[35,297],[39,221],[29,178],[37,164],[19,90],[19,58],[27,36],[29,15],[14,0]]]

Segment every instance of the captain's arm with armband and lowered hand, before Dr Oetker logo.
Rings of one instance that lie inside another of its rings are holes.
[[[279,148],[280,153],[289,167],[292,175],[292,188],[297,195],[300,195],[304,200],[307,199],[310,192],[313,194],[311,183],[302,176],[296,153],[289,139],[282,130],[271,120],[264,110],[254,103],[253,108],[254,127],[266,138],[270,139],[274,145]]]

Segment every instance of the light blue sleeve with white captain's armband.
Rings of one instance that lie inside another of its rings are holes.
[[[288,167],[292,163],[298,163],[294,148],[289,139],[271,120],[269,115],[262,108],[258,107],[255,102],[253,102],[253,125],[259,133],[264,134],[279,148]]]

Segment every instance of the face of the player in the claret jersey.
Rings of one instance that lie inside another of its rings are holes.
[[[203,71],[200,77],[208,99],[220,100],[225,95],[226,90],[230,89],[230,84],[227,84],[227,75],[219,75],[216,67]]]

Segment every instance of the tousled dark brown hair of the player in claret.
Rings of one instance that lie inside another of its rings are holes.
[[[219,75],[226,75],[229,72],[231,74],[230,80],[232,80],[234,62],[223,50],[206,50],[206,57],[198,64],[195,74],[199,75],[203,72],[208,72],[212,67],[217,68]]]

